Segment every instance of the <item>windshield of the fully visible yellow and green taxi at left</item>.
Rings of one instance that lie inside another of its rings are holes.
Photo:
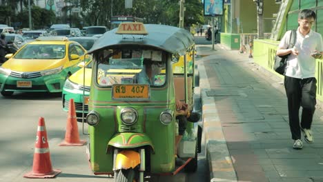
[[[62,59],[65,45],[28,44],[14,56],[15,59]]]

